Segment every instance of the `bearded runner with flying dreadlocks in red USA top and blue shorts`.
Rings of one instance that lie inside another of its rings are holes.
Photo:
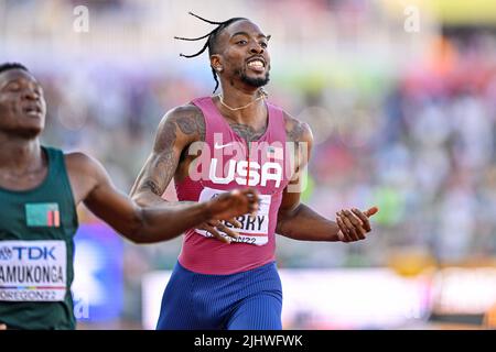
[[[165,114],[132,197],[141,205],[162,202],[174,177],[180,201],[252,186],[260,207],[256,217],[237,219],[234,235],[219,221],[186,231],[158,329],[281,329],[274,233],[306,241],[358,241],[370,231],[368,217],[377,208],[342,210],[331,221],[300,202],[299,187],[292,186],[306,165],[312,133],[266,100],[261,88],[269,81],[270,36],[244,18],[214,22],[193,15],[216,28],[197,38],[179,37],[206,38],[198,53],[182,56],[208,50],[222,95],[194,99]]]

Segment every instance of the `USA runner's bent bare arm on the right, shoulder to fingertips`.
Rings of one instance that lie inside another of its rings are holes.
[[[366,211],[358,209],[343,210],[336,213],[335,221],[326,219],[300,201],[301,177],[312,151],[313,136],[306,123],[285,116],[289,142],[295,143],[295,173],[285,187],[278,212],[276,232],[294,240],[303,241],[342,241],[364,240],[370,232],[368,218],[378,209]]]

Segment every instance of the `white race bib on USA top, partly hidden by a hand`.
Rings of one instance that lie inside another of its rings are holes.
[[[211,200],[217,197],[218,195],[222,195],[227,191],[228,190],[219,190],[205,187],[200,195],[198,201]],[[267,242],[269,241],[269,210],[271,196],[259,195],[258,197],[260,199],[260,205],[258,207],[258,212],[256,216],[244,215],[241,217],[236,218],[236,220],[238,220],[241,223],[240,229],[236,229],[229,223],[223,221],[227,228],[239,234],[238,239],[233,239],[229,237],[233,243],[237,242],[237,243],[263,245],[267,244]],[[205,230],[195,229],[195,231],[206,238],[213,237]],[[228,237],[225,232],[220,230],[218,230],[218,232],[224,237]]]

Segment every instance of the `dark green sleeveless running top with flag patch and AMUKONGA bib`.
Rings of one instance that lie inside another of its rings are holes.
[[[0,188],[0,322],[13,329],[74,329],[71,284],[75,202],[62,151],[44,147],[45,179]]]

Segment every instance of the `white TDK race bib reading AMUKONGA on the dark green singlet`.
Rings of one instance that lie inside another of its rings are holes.
[[[0,241],[0,300],[64,300],[64,241]]]

